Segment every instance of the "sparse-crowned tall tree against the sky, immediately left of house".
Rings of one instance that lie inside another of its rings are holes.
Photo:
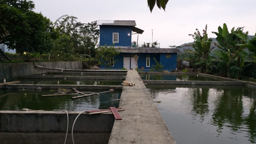
[[[100,34],[97,21],[84,24],[77,22],[76,19],[74,16],[63,15],[55,21],[54,26],[60,35],[70,37],[69,41],[65,42],[72,44],[69,48],[74,49],[74,53],[94,55]]]

